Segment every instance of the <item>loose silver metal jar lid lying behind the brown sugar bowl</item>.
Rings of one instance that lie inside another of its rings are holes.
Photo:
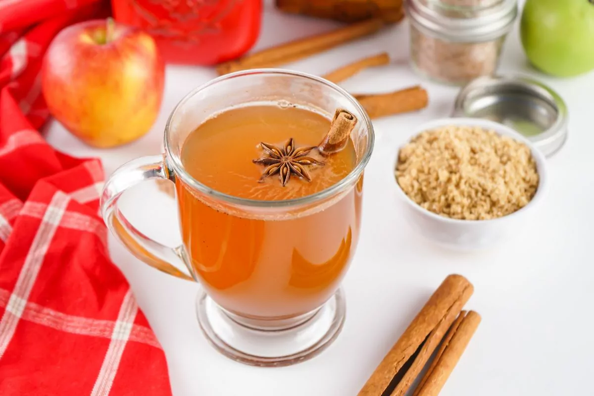
[[[549,157],[567,138],[567,106],[551,88],[526,77],[480,77],[460,90],[453,116],[510,126]]]

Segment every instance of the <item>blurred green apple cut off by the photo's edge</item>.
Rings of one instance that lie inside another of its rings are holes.
[[[594,0],[526,0],[520,38],[545,73],[571,77],[594,69]]]

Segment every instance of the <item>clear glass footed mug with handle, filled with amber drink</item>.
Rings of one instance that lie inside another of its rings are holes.
[[[320,145],[336,109],[353,124],[330,153]],[[200,283],[198,322],[222,353],[252,365],[300,362],[342,328],[339,286],[359,239],[372,145],[365,111],[326,80],[274,69],[225,75],[173,110],[164,157],[114,173],[103,216],[138,258]],[[173,249],[116,210],[127,186],[159,178],[176,185],[183,243]]]

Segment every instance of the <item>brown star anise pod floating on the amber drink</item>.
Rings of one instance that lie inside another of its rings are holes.
[[[266,165],[260,182],[263,182],[268,176],[276,175],[276,173],[279,173],[280,183],[283,186],[289,182],[291,173],[311,182],[311,176],[305,167],[324,164],[312,157],[307,157],[309,151],[315,146],[295,148],[293,138],[287,140],[282,148],[264,142],[261,142],[260,145],[267,155],[267,157],[254,160],[257,164]]]

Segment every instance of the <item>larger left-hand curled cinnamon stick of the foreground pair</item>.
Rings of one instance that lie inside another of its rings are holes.
[[[472,292],[472,284],[462,275],[445,278],[377,366],[358,396],[405,395]],[[401,369],[408,363],[410,367],[402,373]]]

